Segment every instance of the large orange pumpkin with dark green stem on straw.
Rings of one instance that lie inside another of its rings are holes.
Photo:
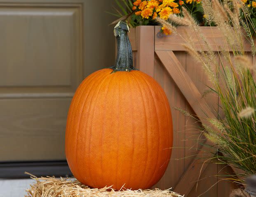
[[[129,27],[115,27],[115,66],[82,81],[70,104],[65,152],[73,175],[92,188],[146,189],[163,176],[173,140],[160,85],[133,67]]]

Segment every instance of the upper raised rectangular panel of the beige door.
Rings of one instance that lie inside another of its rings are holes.
[[[5,66],[0,85],[75,87],[82,68],[80,11],[80,7],[1,8],[0,57]]]

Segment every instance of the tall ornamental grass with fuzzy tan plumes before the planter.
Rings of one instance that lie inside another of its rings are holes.
[[[183,38],[184,48],[202,64],[211,82],[207,94],[218,96],[221,101],[220,110],[216,109],[217,117],[206,117],[209,124],[202,128],[204,136],[214,144],[213,157],[209,160],[230,165],[235,171],[238,169],[240,173],[226,175],[226,179],[244,183],[244,176],[256,174],[256,76],[251,61],[251,56],[256,54],[252,36],[256,30],[251,28],[253,25],[244,1],[202,0],[201,3],[207,23],[214,23],[222,35],[223,45],[217,46],[218,51],[211,48],[198,21],[184,7],[184,16],[170,15],[168,22],[162,18],[156,20],[176,34],[176,25],[190,27],[188,36]],[[203,47],[201,51],[195,50],[195,38],[207,51]],[[244,50],[245,40],[251,44],[251,53]]]

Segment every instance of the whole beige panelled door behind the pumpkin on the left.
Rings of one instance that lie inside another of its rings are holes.
[[[76,87],[114,63],[111,2],[0,0],[0,162],[65,159]]]

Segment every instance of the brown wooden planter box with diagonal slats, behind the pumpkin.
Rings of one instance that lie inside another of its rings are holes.
[[[217,51],[218,46],[222,44],[222,34],[217,28],[200,28],[212,48]],[[190,33],[190,30],[189,27],[178,27],[178,32],[186,37],[186,32]],[[183,108],[198,117],[205,117],[202,109],[209,117],[214,117],[216,113],[213,112],[220,110],[217,96],[210,94],[202,98],[202,94],[207,90],[206,85],[209,84],[202,66],[186,53],[182,46],[185,41],[180,36],[174,34],[165,36],[160,33],[159,26],[133,28],[129,32],[129,38],[133,49],[134,66],[160,83],[171,105],[174,148],[169,167],[156,187],[161,189],[172,187],[174,191],[186,197],[198,196],[212,187],[202,196],[228,197],[234,186],[227,181],[217,183],[221,177],[216,178],[216,175],[230,174],[232,170],[223,165],[207,163],[202,167],[202,160],[195,159],[195,155],[206,157],[209,156],[209,152],[205,149],[200,150],[202,148],[198,143],[200,132],[197,131],[200,123],[174,109]],[[196,38],[195,48],[201,50]],[[245,48],[250,51],[249,44]],[[199,179],[202,181],[197,185]]]

